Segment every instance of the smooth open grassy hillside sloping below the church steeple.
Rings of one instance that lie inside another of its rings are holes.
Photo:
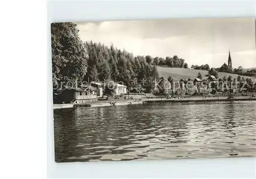
[[[200,72],[203,76],[208,74],[208,71],[206,70],[195,70],[195,69],[186,69],[186,68],[170,68],[170,67],[157,67],[157,70],[159,72],[159,76],[164,76],[164,78],[168,78],[168,76],[172,76],[176,80],[181,80],[181,79],[195,79],[197,77],[197,74]],[[223,73],[219,72],[219,77],[223,78],[226,76],[232,76],[232,78],[237,78],[239,75],[238,74],[231,74],[231,73]],[[242,77],[242,75],[241,75]],[[243,76],[244,79],[250,78],[253,83],[256,83],[256,78],[250,77],[250,76]]]

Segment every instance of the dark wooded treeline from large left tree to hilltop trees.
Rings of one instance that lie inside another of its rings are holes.
[[[75,23],[52,23],[52,72],[54,93],[63,84],[79,81],[114,80],[129,87],[131,80],[158,80],[157,65],[187,68],[184,59],[151,56],[133,56],[113,45],[92,41],[83,42]],[[62,86],[61,86],[62,87]]]

